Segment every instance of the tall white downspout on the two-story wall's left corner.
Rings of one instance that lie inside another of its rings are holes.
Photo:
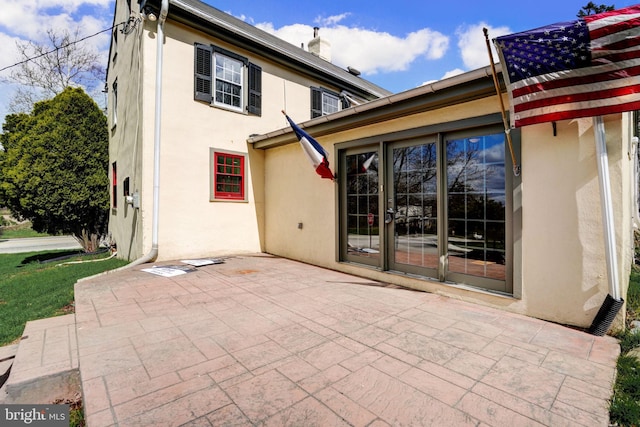
[[[156,31],[156,109],[153,139],[153,216],[151,218],[151,250],[127,267],[145,264],[158,257],[158,216],[160,213],[160,129],[162,121],[162,60],[164,23],[169,12],[169,0],[162,0]]]

